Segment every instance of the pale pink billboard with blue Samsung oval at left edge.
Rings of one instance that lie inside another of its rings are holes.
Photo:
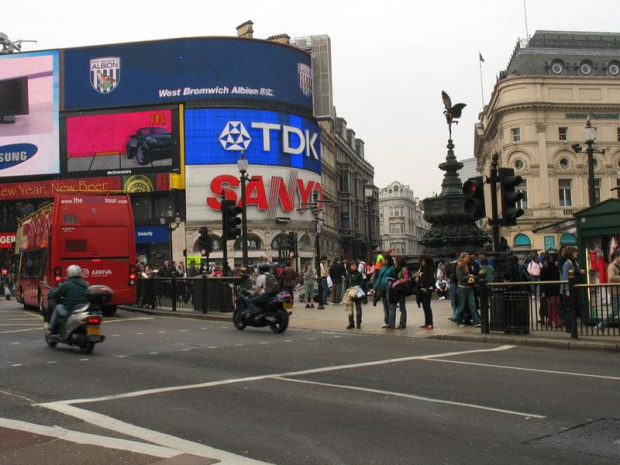
[[[0,55],[0,178],[58,174],[58,52]]]

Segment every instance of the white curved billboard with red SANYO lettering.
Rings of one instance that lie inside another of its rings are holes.
[[[288,167],[249,165],[245,194],[248,221],[273,221],[286,217],[295,222],[314,220],[305,204],[313,192],[323,198],[321,175]],[[187,166],[186,213],[190,224],[220,221],[222,194],[241,202],[241,181],[237,165]],[[301,209],[302,211],[298,211]]]

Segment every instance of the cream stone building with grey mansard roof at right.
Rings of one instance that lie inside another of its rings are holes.
[[[587,157],[572,147],[585,147],[588,117],[597,130],[600,202],[617,196],[612,189],[619,185],[620,34],[537,31],[517,43],[474,135],[479,172],[489,174],[497,152],[499,166],[524,179],[519,190],[525,214],[517,226],[502,228],[511,247],[548,250],[576,243],[574,231],[534,231],[589,205]]]

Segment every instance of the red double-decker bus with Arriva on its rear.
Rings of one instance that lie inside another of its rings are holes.
[[[57,195],[54,202],[20,221],[15,294],[24,308],[47,307],[47,292],[79,265],[89,284],[104,284],[118,304],[136,302],[136,245],[127,195]]]

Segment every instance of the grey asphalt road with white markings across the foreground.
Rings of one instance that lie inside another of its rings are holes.
[[[119,312],[85,356],[47,347],[40,324],[0,305],[0,428],[56,425],[160,453],[105,463],[170,451],[240,465],[620,459],[614,353]]]

